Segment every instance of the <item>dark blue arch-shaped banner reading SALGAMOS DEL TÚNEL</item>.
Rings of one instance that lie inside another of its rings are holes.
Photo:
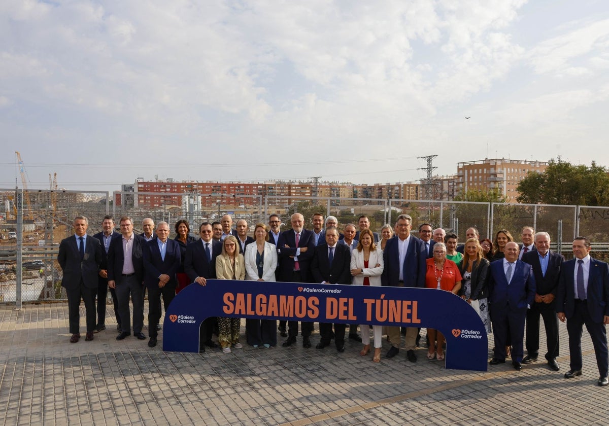
[[[446,338],[446,368],[487,371],[482,320],[443,290],[209,279],[188,285],[169,305],[163,351],[199,352],[199,326],[212,316],[429,327]]]

